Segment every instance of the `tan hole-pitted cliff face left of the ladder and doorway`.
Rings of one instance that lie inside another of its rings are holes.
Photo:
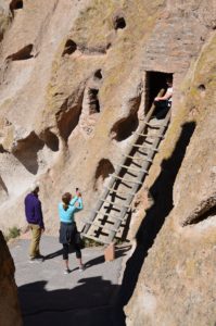
[[[143,46],[162,9],[163,1],[64,0],[14,8],[1,48],[3,229],[24,224],[35,179],[47,231],[58,229],[63,192],[78,186],[92,205],[137,126]]]

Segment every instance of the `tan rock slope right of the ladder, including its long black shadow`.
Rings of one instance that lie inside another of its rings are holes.
[[[152,167],[149,209],[137,212],[143,220],[125,287],[132,265],[139,272],[132,294],[125,290],[127,325],[216,322],[215,50],[211,32],[181,84],[182,100]]]

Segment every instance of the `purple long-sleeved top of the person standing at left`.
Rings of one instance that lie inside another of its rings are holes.
[[[45,228],[41,202],[33,192],[25,198],[25,215],[28,223],[38,224],[41,228]]]

